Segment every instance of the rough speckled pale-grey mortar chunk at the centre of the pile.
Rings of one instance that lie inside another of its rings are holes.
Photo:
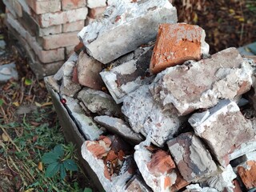
[[[167,140],[173,138],[186,121],[186,118],[178,117],[174,109],[162,110],[154,102],[147,85],[140,86],[124,98],[122,113],[126,115],[135,132],[144,136],[150,134],[151,142],[157,146],[163,146]]]

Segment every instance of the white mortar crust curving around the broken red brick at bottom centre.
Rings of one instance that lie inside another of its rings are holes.
[[[138,166],[138,170],[141,172],[146,184],[150,186],[154,192],[169,192],[170,189],[168,187],[165,189],[164,187],[165,178],[171,178],[170,186],[172,186],[177,179],[177,174],[174,171],[170,172],[170,174],[161,174],[158,177],[151,174],[147,167],[147,163],[150,162],[152,154],[149,150],[146,150],[145,146],[150,146],[150,134],[144,142],[141,142],[139,145],[134,147],[134,160]]]

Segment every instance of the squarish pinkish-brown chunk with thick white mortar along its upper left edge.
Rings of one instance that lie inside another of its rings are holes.
[[[253,141],[255,132],[235,102],[222,100],[209,112],[204,121],[196,120],[194,117],[198,114],[193,114],[189,122],[195,134],[204,139],[214,157],[225,167],[230,162],[228,155],[242,143]]]

